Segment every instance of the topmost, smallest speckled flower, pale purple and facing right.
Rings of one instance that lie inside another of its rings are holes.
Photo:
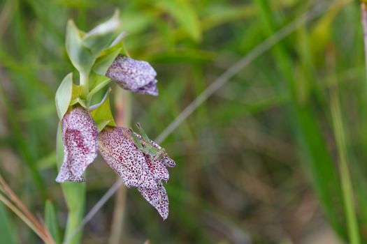
[[[118,55],[108,68],[106,76],[113,79],[123,89],[135,93],[158,96],[157,73],[146,61],[138,61]]]

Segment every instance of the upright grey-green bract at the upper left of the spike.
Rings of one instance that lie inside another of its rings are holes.
[[[69,20],[66,26],[66,52],[71,63],[80,73],[89,73],[96,59],[92,52],[82,45],[82,32]]]

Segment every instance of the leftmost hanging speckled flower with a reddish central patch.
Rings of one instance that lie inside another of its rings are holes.
[[[82,107],[75,107],[62,118],[64,160],[56,181],[85,181],[85,169],[97,155],[97,128],[92,116]]]

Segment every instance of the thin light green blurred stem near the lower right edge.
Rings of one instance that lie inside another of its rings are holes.
[[[339,170],[342,183],[344,208],[347,217],[347,229],[350,238],[350,243],[361,243],[359,237],[359,229],[357,223],[356,212],[354,209],[354,197],[352,182],[350,178],[350,171],[347,165],[347,147],[345,145],[345,132],[343,126],[343,120],[340,112],[340,102],[337,91],[331,92],[331,115],[333,117],[333,127],[338,146],[339,154]]]

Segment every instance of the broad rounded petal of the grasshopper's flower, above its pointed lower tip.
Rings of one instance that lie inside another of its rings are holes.
[[[127,187],[157,188],[145,155],[127,133],[126,128],[105,128],[98,136],[99,152]]]

